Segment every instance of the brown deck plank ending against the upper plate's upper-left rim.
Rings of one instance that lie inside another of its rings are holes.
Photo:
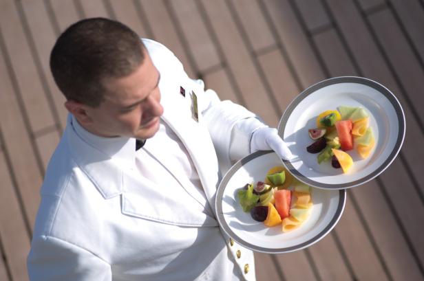
[[[259,64],[278,102],[281,115],[288,104],[300,93],[290,69],[284,61],[279,49],[275,49],[257,57]]]

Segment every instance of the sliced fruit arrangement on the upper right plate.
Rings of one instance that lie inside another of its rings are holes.
[[[339,106],[319,114],[317,128],[310,128],[308,134],[315,142],[308,146],[308,153],[319,153],[319,164],[329,162],[333,168],[348,172],[353,165],[352,157],[346,151],[356,148],[362,159],[367,158],[374,148],[374,134],[368,126],[369,117],[361,107]]]

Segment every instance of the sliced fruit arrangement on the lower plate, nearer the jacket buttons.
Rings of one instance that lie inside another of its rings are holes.
[[[282,166],[271,168],[264,181],[247,183],[237,192],[244,212],[267,227],[282,225],[282,231],[296,229],[306,221],[312,207],[310,187],[297,181]]]

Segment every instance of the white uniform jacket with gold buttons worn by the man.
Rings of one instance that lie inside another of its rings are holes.
[[[162,121],[189,152],[211,212],[190,212],[202,201],[194,190],[169,191],[174,184],[169,181],[152,184],[89,146],[68,118],[41,188],[28,256],[30,280],[255,280],[253,253],[229,245],[213,214],[220,169],[229,168],[230,155],[249,153],[258,126],[234,125],[255,115],[204,91],[169,49],[143,41],[161,75]],[[198,96],[199,122],[191,116],[191,90]],[[135,147],[135,139],[123,142]],[[165,157],[166,149],[165,144]]]

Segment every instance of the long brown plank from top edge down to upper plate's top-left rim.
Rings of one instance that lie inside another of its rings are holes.
[[[324,71],[287,0],[261,1],[273,22],[279,44],[286,49],[303,89],[324,80]]]

